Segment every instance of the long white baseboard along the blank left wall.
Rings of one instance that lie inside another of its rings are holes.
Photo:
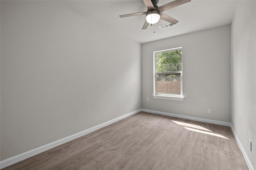
[[[12,165],[12,164],[16,164],[17,162],[20,162],[20,161],[22,161],[22,160],[25,160],[25,159],[27,159],[27,158],[30,158],[30,157],[32,157],[32,156],[34,156],[34,155],[36,155],[36,154],[42,153],[42,152],[44,152],[44,151],[46,151],[46,150],[52,149],[52,148],[54,148],[54,147],[57,147],[57,146],[59,146],[59,145],[62,145],[62,144],[64,144],[64,143],[67,143],[67,142],[69,142],[69,141],[72,141],[72,140],[74,140],[74,139],[76,139],[76,138],[78,138],[78,137],[82,137],[83,135],[86,135],[86,134],[91,133],[91,132],[93,132],[93,131],[96,131],[96,130],[102,128],[102,127],[105,127],[105,126],[107,126],[107,125],[110,125],[110,124],[112,124],[112,123],[115,123],[116,121],[119,121],[119,120],[121,120],[121,119],[124,119],[124,118],[126,118],[126,117],[129,117],[129,116],[134,115],[134,114],[136,114],[136,113],[139,113],[140,111],[142,111],[142,110],[141,110],[141,109],[138,109],[138,110],[133,111],[133,112],[131,112],[131,113],[128,113],[128,114],[126,114],[126,115],[120,116],[120,117],[118,117],[118,118],[116,118],[116,119],[107,121],[107,122],[105,122],[105,123],[102,123],[102,124],[100,124],[100,125],[97,125],[97,126],[95,126],[95,127],[92,127],[92,128],[90,128],[90,129],[86,129],[86,130],[84,130],[84,131],[82,131],[82,132],[76,133],[76,134],[74,134],[74,135],[70,135],[70,136],[68,136],[68,137],[65,137],[65,138],[60,139],[60,140],[58,140],[58,141],[49,143],[49,144],[44,145],[44,146],[42,146],[42,147],[38,147],[38,148],[36,148],[36,149],[29,150],[28,152],[24,152],[24,153],[22,153],[22,154],[18,154],[18,155],[16,155],[16,156],[13,156],[13,157],[8,158],[8,159],[6,159],[6,160],[2,160],[2,161],[0,162],[0,169],[5,168],[5,167],[7,167],[7,166],[10,166],[10,165]]]

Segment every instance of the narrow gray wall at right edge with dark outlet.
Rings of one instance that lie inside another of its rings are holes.
[[[256,1],[238,1],[231,39],[231,125],[256,169]]]

